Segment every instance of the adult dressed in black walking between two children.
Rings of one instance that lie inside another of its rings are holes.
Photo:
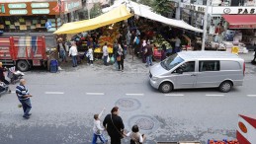
[[[119,116],[118,107],[112,108],[111,113],[106,115],[103,120],[103,126],[107,127],[108,134],[111,137],[111,144],[121,144],[125,125],[123,119]]]

